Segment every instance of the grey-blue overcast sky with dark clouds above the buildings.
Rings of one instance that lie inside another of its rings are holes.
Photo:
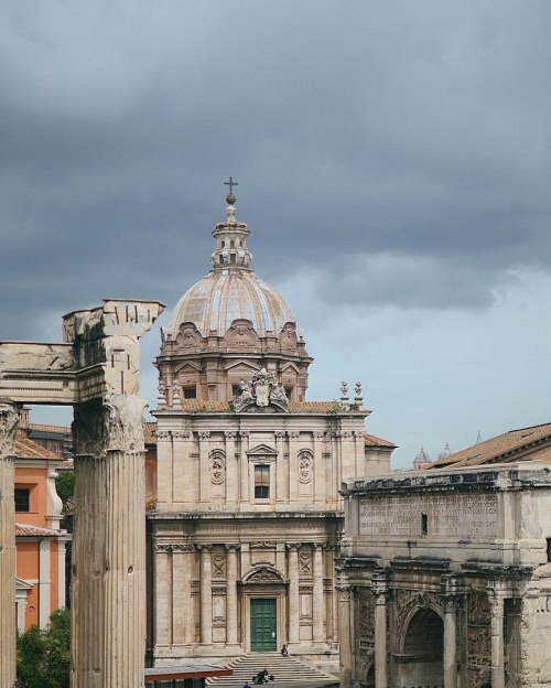
[[[549,421],[550,35],[547,0],[3,2],[0,338],[172,308],[231,174],[309,398],[363,381],[397,467]]]

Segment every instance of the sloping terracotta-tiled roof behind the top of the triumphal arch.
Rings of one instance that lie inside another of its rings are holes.
[[[510,430],[495,438],[478,442],[462,451],[439,459],[430,469],[461,467],[486,463],[529,461],[533,449],[551,441],[551,423]]]

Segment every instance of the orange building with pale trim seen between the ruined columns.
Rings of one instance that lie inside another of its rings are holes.
[[[55,491],[57,470],[67,461],[18,432],[15,440],[15,609],[19,631],[44,628],[50,614],[65,606],[65,545],[60,527],[62,501]]]

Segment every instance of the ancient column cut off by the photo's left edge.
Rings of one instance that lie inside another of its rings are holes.
[[[15,684],[14,444],[20,407],[0,402],[0,686]]]

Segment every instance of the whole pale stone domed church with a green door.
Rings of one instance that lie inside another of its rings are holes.
[[[156,503],[148,514],[150,663],[220,662],[287,643],[337,658],[339,487],[388,472],[361,386],[306,401],[312,358],[292,311],[250,268],[249,229],[213,229],[210,271],[162,333]]]

